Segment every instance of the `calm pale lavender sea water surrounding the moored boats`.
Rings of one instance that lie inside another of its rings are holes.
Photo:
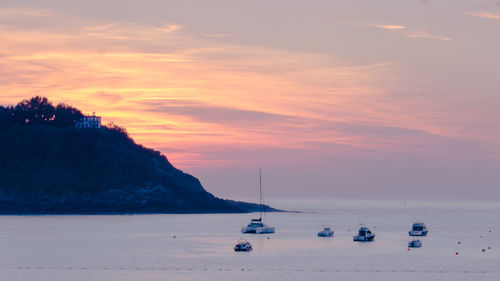
[[[267,214],[251,253],[232,248],[254,214],[0,216],[0,280],[500,280],[498,202],[273,203],[303,213]],[[416,219],[430,233],[408,251]],[[352,241],[360,223],[375,242]]]

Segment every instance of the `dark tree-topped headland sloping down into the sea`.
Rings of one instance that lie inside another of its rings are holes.
[[[75,128],[83,117],[43,97],[0,106],[0,214],[232,213],[224,200],[120,126]],[[265,206],[268,211],[276,211]]]

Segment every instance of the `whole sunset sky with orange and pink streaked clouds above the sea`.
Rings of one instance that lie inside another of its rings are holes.
[[[0,104],[34,95],[217,196],[500,198],[497,0],[0,0]]]

